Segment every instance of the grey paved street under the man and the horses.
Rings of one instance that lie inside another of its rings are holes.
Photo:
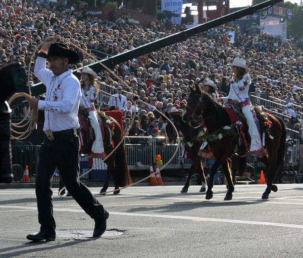
[[[223,201],[224,185],[210,201],[200,186],[181,188],[134,186],[97,197],[110,212],[100,238],[83,237],[93,220],[55,188],[50,242],[26,239],[39,230],[34,189],[0,189],[0,257],[302,257],[303,184],[278,185],[269,200],[261,200],[265,185],[236,185],[232,201]]]

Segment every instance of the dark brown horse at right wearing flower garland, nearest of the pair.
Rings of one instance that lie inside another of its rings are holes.
[[[271,190],[277,191],[278,187],[273,185],[273,180],[276,173],[284,160],[284,147],[286,142],[286,128],[281,118],[275,115],[266,113],[269,120],[272,122],[270,139],[268,134],[265,134],[265,148],[268,155],[263,158],[259,158],[267,168],[267,188],[262,195],[262,199],[268,199]],[[231,124],[230,118],[221,105],[216,103],[208,94],[201,91],[198,85],[195,85],[195,89],[191,88],[185,111],[182,114],[184,122],[188,122],[192,117],[200,116],[206,127],[207,133],[213,134],[223,130],[224,126]],[[230,136],[223,137],[217,142],[208,142],[211,150],[216,158],[215,164],[211,167],[210,179],[208,184],[208,190],[206,193],[206,199],[209,200],[213,197],[213,181],[216,170],[219,166],[222,166],[224,174],[226,176],[229,188],[224,200],[232,199],[232,192],[234,185],[232,183],[230,172],[230,156],[234,153],[235,147],[238,143],[238,137]],[[238,153],[238,152],[237,152]],[[239,152],[241,153],[241,151]]]

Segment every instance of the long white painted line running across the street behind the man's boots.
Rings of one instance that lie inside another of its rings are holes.
[[[27,210],[37,210],[35,207],[21,207],[21,206],[11,206],[11,205],[0,205],[0,208],[10,208],[10,209],[27,209]],[[59,209],[54,208],[55,211],[62,212],[79,212],[84,213],[83,210],[77,209]],[[110,212],[111,215],[118,216],[133,216],[133,217],[153,217],[153,218],[165,218],[165,219],[185,219],[198,221],[215,221],[223,223],[236,223],[236,224],[250,224],[250,225],[263,225],[263,226],[275,226],[275,227],[287,227],[287,228],[301,228],[303,225],[296,224],[286,224],[286,223],[274,223],[274,222],[262,222],[262,221],[245,221],[245,220],[227,220],[227,219],[217,219],[217,218],[203,218],[203,217],[190,217],[190,216],[174,216],[174,215],[161,215],[161,214],[142,214],[142,213],[126,213],[126,212]]]

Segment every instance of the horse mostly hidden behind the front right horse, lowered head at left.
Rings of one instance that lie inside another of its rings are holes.
[[[188,177],[187,181],[182,188],[181,192],[187,192],[188,187],[190,185],[190,179],[195,171],[199,173],[202,180],[202,186],[200,188],[200,191],[206,191],[205,186],[205,173],[203,166],[201,166],[201,157],[198,156],[198,152],[200,149],[202,141],[195,140],[196,136],[200,132],[200,130],[203,130],[203,127],[199,122],[194,123],[191,121],[191,124],[185,123],[182,120],[183,111],[173,111],[170,113],[165,113],[165,115],[170,118],[171,122],[175,125],[178,132],[174,130],[174,127],[172,124],[167,121],[165,117],[163,117],[164,123],[163,126],[165,127],[166,136],[168,138],[168,143],[176,143],[177,142],[177,134],[179,136],[183,135],[183,140],[186,142],[184,145],[185,150],[190,156],[190,159],[192,160],[192,164],[188,170]],[[200,126],[199,126],[200,125]],[[194,127],[193,127],[194,126]],[[208,150],[208,146],[205,147],[205,150]],[[197,166],[195,167],[195,165]],[[231,157],[231,170],[232,170],[232,179],[233,182],[235,182],[236,172],[238,171],[239,175],[242,176],[243,172],[246,170],[246,157],[237,157],[233,155]],[[227,186],[228,187],[228,186]]]

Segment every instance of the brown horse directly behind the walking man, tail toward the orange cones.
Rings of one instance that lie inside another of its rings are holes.
[[[115,122],[114,126],[114,134],[112,137],[110,137],[110,134],[112,134],[109,130],[109,128],[106,128],[104,125],[104,150],[107,155],[109,155],[114,147],[118,145],[118,143],[121,141],[121,126],[120,124],[112,117],[108,117],[110,120]],[[89,127],[89,120],[84,121],[86,124],[86,127]],[[43,134],[43,123],[44,123],[44,111],[39,110],[38,111],[38,121],[37,121],[37,131],[39,134]],[[79,133],[79,132],[78,132]],[[82,134],[87,134],[87,132],[81,131]],[[85,139],[85,137],[83,137]],[[113,140],[113,143],[110,141],[110,139]],[[88,144],[91,147],[91,143],[86,142],[84,144]],[[89,149],[89,148],[88,148]],[[91,150],[87,150],[86,153],[89,154]],[[124,187],[129,184],[131,184],[131,178],[130,173],[127,165],[127,158],[126,158],[126,151],[124,148],[124,145],[121,144],[114,153],[111,154],[111,156],[105,161],[107,164],[107,178],[104,183],[103,188],[100,190],[100,192],[106,192],[109,187],[110,178],[113,175],[115,189],[118,189],[119,187]],[[60,172],[60,171],[59,171]],[[119,191],[114,191],[114,194],[119,193]]]

